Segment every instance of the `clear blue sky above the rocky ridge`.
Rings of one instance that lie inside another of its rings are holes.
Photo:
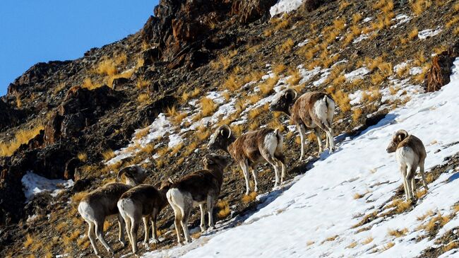
[[[0,95],[40,61],[82,57],[140,30],[158,0],[2,0]]]

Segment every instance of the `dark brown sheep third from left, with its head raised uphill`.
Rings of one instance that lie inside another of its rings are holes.
[[[213,207],[220,195],[223,183],[223,170],[232,163],[229,156],[207,154],[203,160],[204,169],[184,176],[172,182],[167,191],[167,201],[174,210],[174,225],[177,232],[177,242],[181,244],[181,230],[184,232],[185,242],[191,242],[188,230],[188,219],[193,207],[199,205],[201,209],[201,231],[205,231],[205,210],[208,211],[209,229],[213,229]]]

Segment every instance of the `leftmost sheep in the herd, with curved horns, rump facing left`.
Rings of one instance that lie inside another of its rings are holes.
[[[126,176],[126,184],[117,182],[105,184],[88,193],[81,199],[80,204],[78,204],[78,212],[89,225],[88,238],[97,256],[99,256],[100,252],[96,246],[95,236],[102,242],[102,245],[104,245],[107,251],[113,254],[112,248],[105,241],[103,232],[104,221],[107,216],[118,215],[118,239],[123,246],[126,245],[124,241],[124,221],[119,215],[117,201],[121,197],[121,194],[124,194],[124,192],[137,184],[141,184],[147,177],[147,174],[139,166],[129,166],[119,170],[117,175],[118,180],[121,179],[121,175],[123,174]]]

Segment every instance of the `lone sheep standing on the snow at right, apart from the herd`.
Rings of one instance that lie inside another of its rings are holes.
[[[403,188],[405,189],[406,200],[413,200],[416,193],[415,174],[417,167],[422,177],[424,189],[427,187],[427,180],[424,174],[424,160],[427,153],[422,141],[414,135],[409,135],[405,130],[398,130],[393,134],[391,143],[387,147],[388,153],[395,152],[395,157],[400,165],[400,172],[403,176]]]

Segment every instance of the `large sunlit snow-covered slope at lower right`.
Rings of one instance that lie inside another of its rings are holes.
[[[424,141],[427,175],[443,158],[459,152],[459,144],[451,144],[458,141],[459,124],[459,59],[455,64],[452,81],[442,90],[413,96],[376,126],[346,139],[338,152],[324,153],[314,168],[296,177],[289,189],[242,225],[229,229],[220,225],[189,245],[144,257],[417,257],[459,225],[456,216],[434,239],[415,240],[426,234],[419,228],[425,221],[417,217],[429,211],[443,216],[454,212],[451,208],[459,201],[458,168],[431,182],[427,195],[411,211],[352,227],[364,214],[386,204],[402,184],[394,154],[386,153],[394,131],[406,129]],[[354,194],[364,197],[354,199]],[[366,230],[359,230],[363,227]],[[406,235],[399,238],[388,234],[405,228]]]

